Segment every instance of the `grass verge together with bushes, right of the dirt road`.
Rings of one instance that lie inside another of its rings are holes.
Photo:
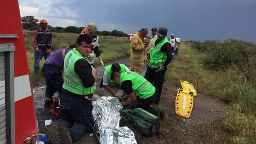
[[[242,40],[183,42],[166,73],[175,86],[189,81],[198,93],[229,104],[221,124],[204,125],[215,141],[223,142],[225,136],[234,144],[256,143],[255,54],[256,46]]]

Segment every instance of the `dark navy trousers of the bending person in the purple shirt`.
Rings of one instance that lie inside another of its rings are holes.
[[[52,101],[52,95],[54,95],[55,92],[58,92],[59,95],[62,94],[62,71],[58,67],[46,63],[44,63],[42,71],[44,73],[46,84],[45,100]]]

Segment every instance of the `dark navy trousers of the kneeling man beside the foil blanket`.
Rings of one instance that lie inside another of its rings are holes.
[[[72,141],[81,139],[85,132],[92,130],[92,108],[91,100],[70,96],[63,92],[57,124],[69,129]]]

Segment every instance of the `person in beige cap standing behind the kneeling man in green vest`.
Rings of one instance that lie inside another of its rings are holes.
[[[100,51],[99,51],[99,36],[96,34],[96,32],[97,32],[96,24],[95,23],[88,23],[87,26],[82,30],[81,33],[89,35],[90,38],[93,40],[90,55],[87,56],[87,60],[89,61],[89,63],[92,66],[94,66],[94,54],[95,54],[96,57],[99,59],[99,62],[104,67],[105,65],[102,61],[102,57],[101,57]]]

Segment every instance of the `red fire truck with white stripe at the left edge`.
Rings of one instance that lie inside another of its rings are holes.
[[[33,144],[38,125],[18,0],[0,0],[0,144]]]

